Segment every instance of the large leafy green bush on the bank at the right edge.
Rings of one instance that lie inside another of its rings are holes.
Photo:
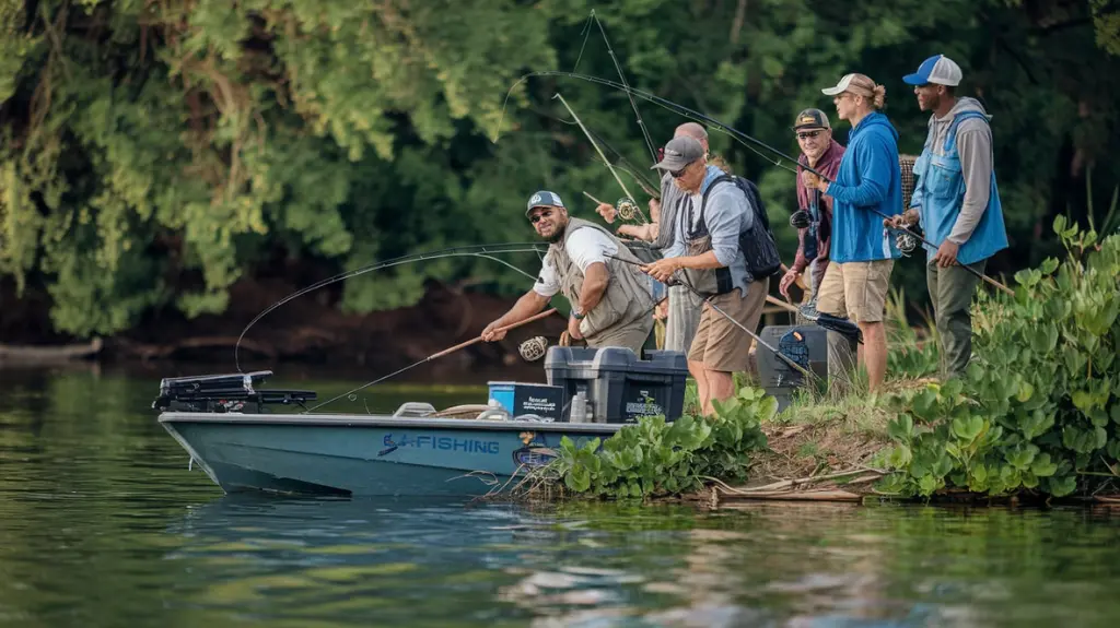
[[[1054,231],[1065,261],[1016,275],[1012,298],[981,297],[967,377],[893,399],[897,469],[880,489],[928,496],[1091,493],[1120,460],[1120,235]]]

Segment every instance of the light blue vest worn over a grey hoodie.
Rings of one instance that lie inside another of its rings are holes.
[[[926,139],[922,155],[914,162],[915,187],[922,191],[922,206],[918,212],[926,239],[941,246],[956,223],[964,202],[964,175],[961,172],[961,158],[956,150],[956,127],[965,120],[979,118],[988,123],[980,112],[963,112],[953,116],[945,136],[944,154],[933,154],[933,133]],[[991,169],[991,192],[988,194],[988,207],[977,223],[968,241],[961,245],[956,260],[963,265],[987,259],[1007,248],[1007,229],[1004,226],[1004,207],[996,188],[996,168]],[[926,250],[927,261],[932,261],[935,250]]]

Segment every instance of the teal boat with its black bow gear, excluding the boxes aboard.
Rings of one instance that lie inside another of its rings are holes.
[[[290,411],[316,393],[261,389],[271,375],[160,382],[152,403],[159,424],[186,449],[190,465],[226,493],[484,495],[517,469],[548,464],[566,436],[582,445],[622,427],[511,416],[493,406],[474,418],[452,418],[426,402],[403,403],[391,415]]]

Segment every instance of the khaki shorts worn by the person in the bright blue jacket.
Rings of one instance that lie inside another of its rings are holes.
[[[816,292],[816,310],[856,323],[883,321],[894,259],[832,261]]]

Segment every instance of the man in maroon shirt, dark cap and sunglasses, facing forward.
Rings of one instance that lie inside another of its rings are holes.
[[[801,181],[803,165],[824,174],[829,179],[837,178],[840,170],[840,158],[844,148],[832,137],[832,126],[829,116],[821,110],[810,108],[797,114],[793,132],[801,146],[797,158],[797,211],[791,222],[797,227],[797,253],[793,266],[786,270],[778,284],[782,296],[790,298],[790,286],[809,268],[809,292],[811,298],[816,298],[816,288],[824,278],[824,269],[829,266],[829,245],[832,238],[832,197],[822,194],[816,188],[809,188]]]

